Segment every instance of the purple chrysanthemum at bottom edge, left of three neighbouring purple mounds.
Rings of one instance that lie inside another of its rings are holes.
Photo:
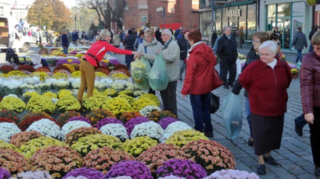
[[[86,168],[86,167],[75,168],[67,172],[63,178],[66,178],[68,176],[74,176],[74,177],[84,176],[88,179],[104,179],[105,178],[105,175],[101,171],[96,170],[94,168]]]

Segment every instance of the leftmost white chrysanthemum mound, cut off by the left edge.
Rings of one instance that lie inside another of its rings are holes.
[[[10,142],[11,136],[21,132],[18,126],[11,122],[1,122],[0,123],[0,140]]]

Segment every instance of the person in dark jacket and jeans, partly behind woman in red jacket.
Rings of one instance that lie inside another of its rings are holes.
[[[186,57],[188,54],[188,50],[190,48],[190,43],[188,41],[189,31],[190,30],[184,30],[183,31],[184,37],[180,38],[176,41],[176,43],[179,45],[179,48],[180,48],[180,61],[179,61],[179,67],[180,67],[179,80],[180,81],[182,81],[182,74],[183,74],[184,69],[186,68],[186,65],[185,65]]]

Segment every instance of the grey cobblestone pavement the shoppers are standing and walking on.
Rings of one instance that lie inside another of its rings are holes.
[[[244,48],[239,50],[240,53],[246,54],[250,49],[251,44],[246,43]],[[30,53],[37,52],[39,48],[31,47]],[[288,61],[293,62],[296,53],[284,52]],[[119,59],[124,63],[124,55],[116,54],[114,57]],[[0,53],[0,65],[4,61],[5,53]],[[216,66],[219,68],[219,65]],[[183,78],[184,79],[184,78]],[[183,85],[183,80],[177,83],[177,107],[178,107],[178,117],[185,123],[189,124],[191,127],[194,125],[192,109],[190,105],[189,96],[182,99],[180,90]],[[244,102],[243,91],[241,90],[239,96],[242,102],[243,108],[243,122],[242,131],[239,136],[232,139],[228,136],[223,120],[221,118],[221,108],[211,114],[211,121],[213,125],[214,137],[210,138],[220,142],[222,145],[227,147],[234,155],[236,161],[236,169],[245,170],[248,172],[256,172],[257,157],[254,154],[254,148],[247,144],[249,138],[249,127],[246,121],[246,115],[244,112]],[[219,87],[213,91],[214,94],[220,96],[220,105],[228,93],[231,92],[230,89],[225,89]],[[156,95],[161,99],[159,92]],[[279,163],[278,166],[272,166],[266,163],[267,172],[265,175],[261,175],[261,178],[317,178],[314,171],[314,164],[312,161],[311,147],[309,142],[309,127],[306,125],[303,128],[303,136],[298,136],[294,131],[294,118],[301,114],[301,99],[300,99],[300,87],[299,79],[293,79],[290,87],[288,88],[289,99],[287,102],[287,112],[284,115],[284,128],[282,134],[281,147],[278,150],[272,151],[271,154],[275,160]],[[319,177],[318,177],[319,178]]]

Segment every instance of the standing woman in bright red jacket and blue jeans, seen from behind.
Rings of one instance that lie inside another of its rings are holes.
[[[202,42],[200,31],[191,30],[188,39],[191,48],[186,61],[186,74],[181,90],[182,98],[190,94],[194,129],[204,132],[207,137],[213,137],[209,101],[210,92],[213,90],[213,70],[216,58],[212,49]]]

